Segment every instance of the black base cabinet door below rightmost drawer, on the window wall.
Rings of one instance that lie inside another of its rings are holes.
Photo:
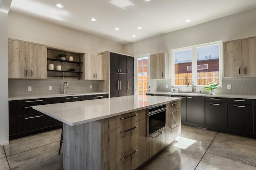
[[[253,133],[253,105],[228,103],[228,130]]]

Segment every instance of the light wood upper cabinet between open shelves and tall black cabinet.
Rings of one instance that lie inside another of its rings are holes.
[[[84,80],[104,80],[104,56],[84,55]]]

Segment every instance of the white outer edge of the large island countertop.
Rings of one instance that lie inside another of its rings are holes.
[[[172,97],[172,98],[176,98],[176,99],[170,100],[170,101],[166,101],[166,102],[160,102],[160,103],[157,103],[157,104],[152,104],[152,105],[149,105],[149,106],[143,106],[143,107],[139,107],[139,108],[136,108],[136,109],[130,109],[130,110],[125,110],[125,111],[121,111],[121,112],[117,112],[117,113],[112,113],[112,114],[109,114],[109,115],[94,117],[92,119],[86,119],[86,120],[77,121],[77,122],[66,121],[64,119],[61,119],[60,117],[57,117],[57,116],[52,115],[50,113],[47,113],[47,112],[45,112],[45,111],[43,111],[41,109],[38,109],[38,108],[36,108],[36,106],[33,106],[32,108],[37,110],[37,111],[40,111],[41,113],[44,113],[44,114],[52,117],[54,119],[57,119],[57,120],[59,120],[59,121],[61,121],[63,123],[66,123],[67,125],[75,126],[75,125],[80,125],[80,124],[83,124],[83,123],[88,123],[88,122],[92,122],[92,121],[106,119],[106,118],[109,118],[109,117],[114,117],[114,116],[117,116],[117,115],[122,115],[122,114],[125,114],[125,113],[130,113],[130,112],[133,112],[133,111],[138,111],[138,110],[142,110],[142,109],[146,109],[146,108],[150,108],[150,107],[154,107],[154,106],[158,106],[158,105],[162,105],[162,104],[168,104],[168,103],[171,103],[171,102],[182,100],[182,98],[177,98],[177,97]],[[98,100],[104,100],[104,99],[98,99]],[[40,105],[40,106],[42,106],[42,105]]]

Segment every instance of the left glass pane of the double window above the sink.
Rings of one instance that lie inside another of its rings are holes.
[[[174,52],[175,85],[187,85],[192,80],[192,49]]]

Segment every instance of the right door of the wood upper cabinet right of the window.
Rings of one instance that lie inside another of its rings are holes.
[[[242,75],[256,76],[256,38],[242,40]]]

